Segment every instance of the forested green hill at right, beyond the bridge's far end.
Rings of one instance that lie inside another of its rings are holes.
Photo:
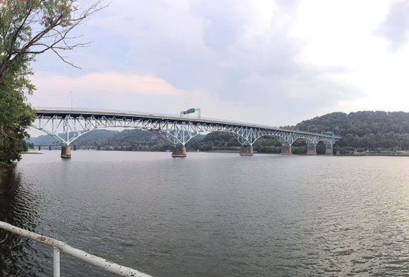
[[[409,113],[401,111],[328,113],[302,121],[296,128],[317,133],[334,131],[343,137],[341,147],[409,149]]]

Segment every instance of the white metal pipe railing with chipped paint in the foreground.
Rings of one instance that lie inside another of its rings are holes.
[[[35,240],[36,242],[40,242],[43,245],[49,245],[53,247],[54,277],[60,277],[60,252],[70,254],[76,259],[80,259],[81,261],[85,261],[88,264],[92,264],[93,266],[104,269],[104,271],[115,273],[119,276],[152,277],[135,269],[130,269],[129,267],[115,264],[112,261],[102,259],[93,254],[88,254],[83,250],[76,249],[74,247],[71,247],[70,245],[67,245],[65,242],[61,242],[60,240],[54,240],[54,238],[48,238],[44,235],[39,235],[37,233],[30,232],[29,230],[18,228],[3,221],[0,221],[0,228],[8,230],[17,235],[21,235],[25,238],[29,238],[30,240]]]

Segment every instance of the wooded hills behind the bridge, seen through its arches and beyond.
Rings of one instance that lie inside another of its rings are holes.
[[[292,128],[290,126],[289,128]],[[385,111],[358,111],[355,113],[328,113],[294,126],[296,130],[315,133],[333,131],[341,135],[343,140],[336,144],[336,149],[343,153],[354,152],[355,149],[409,149],[409,113]],[[49,135],[34,137],[29,142],[35,145],[56,144]],[[93,130],[75,141],[75,146],[83,149],[127,150],[127,151],[166,151],[172,145],[163,135],[157,132],[126,129]],[[188,150],[200,151],[238,151],[240,144],[231,135],[221,132],[198,135],[186,144]],[[293,153],[306,152],[303,141],[293,144]],[[318,144],[317,152],[324,152],[324,145]],[[254,150],[262,153],[279,153],[281,144],[274,137],[260,137]]]

